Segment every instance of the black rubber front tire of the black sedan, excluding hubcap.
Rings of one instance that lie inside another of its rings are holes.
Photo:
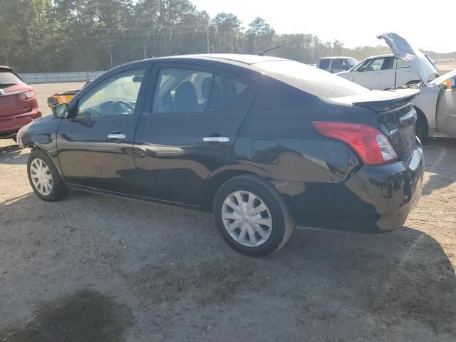
[[[49,174],[51,175],[52,179],[52,189],[51,192],[48,194],[41,193],[38,191],[36,186],[33,184],[33,180],[31,177],[31,165],[34,160],[42,160],[45,165],[47,165]],[[61,179],[60,175],[58,174],[58,171],[56,167],[54,166],[52,160],[46,152],[43,152],[42,150],[32,150],[30,157],[28,157],[28,162],[27,162],[27,175],[28,175],[28,182],[30,182],[30,186],[33,189],[33,192],[35,192],[36,196],[40,197],[41,199],[48,201],[48,202],[55,202],[60,199],[63,199],[68,192],[70,191],[69,188],[63,183],[63,180]]]

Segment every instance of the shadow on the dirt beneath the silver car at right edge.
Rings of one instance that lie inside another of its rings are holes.
[[[430,175],[423,185],[423,196],[456,182],[456,139],[436,138],[424,146],[425,171]]]

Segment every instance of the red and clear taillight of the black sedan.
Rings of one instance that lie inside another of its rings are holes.
[[[398,159],[398,154],[390,140],[372,126],[315,121],[314,128],[321,135],[346,142],[366,165],[383,164]]]

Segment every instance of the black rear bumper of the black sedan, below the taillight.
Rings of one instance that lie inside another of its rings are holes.
[[[423,149],[416,145],[408,164],[365,165],[340,184],[293,182],[277,189],[296,224],[385,232],[401,227],[415,207],[423,172]]]

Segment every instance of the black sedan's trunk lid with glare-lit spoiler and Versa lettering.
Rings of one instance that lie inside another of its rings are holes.
[[[379,130],[393,144],[400,160],[408,162],[416,144],[416,111],[413,108],[413,98],[418,93],[420,90],[372,90],[331,100],[374,110],[378,114]]]

